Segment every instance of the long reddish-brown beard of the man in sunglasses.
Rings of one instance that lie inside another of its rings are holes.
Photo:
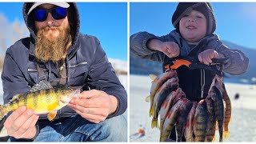
[[[49,35],[49,39],[46,38],[46,32],[48,30],[58,30],[58,38],[54,38],[52,34]],[[35,42],[34,55],[35,58],[42,62],[58,62],[64,61],[66,58],[66,52],[69,50],[72,43],[70,35],[70,26],[66,29],[51,26],[38,30],[37,40]]]

